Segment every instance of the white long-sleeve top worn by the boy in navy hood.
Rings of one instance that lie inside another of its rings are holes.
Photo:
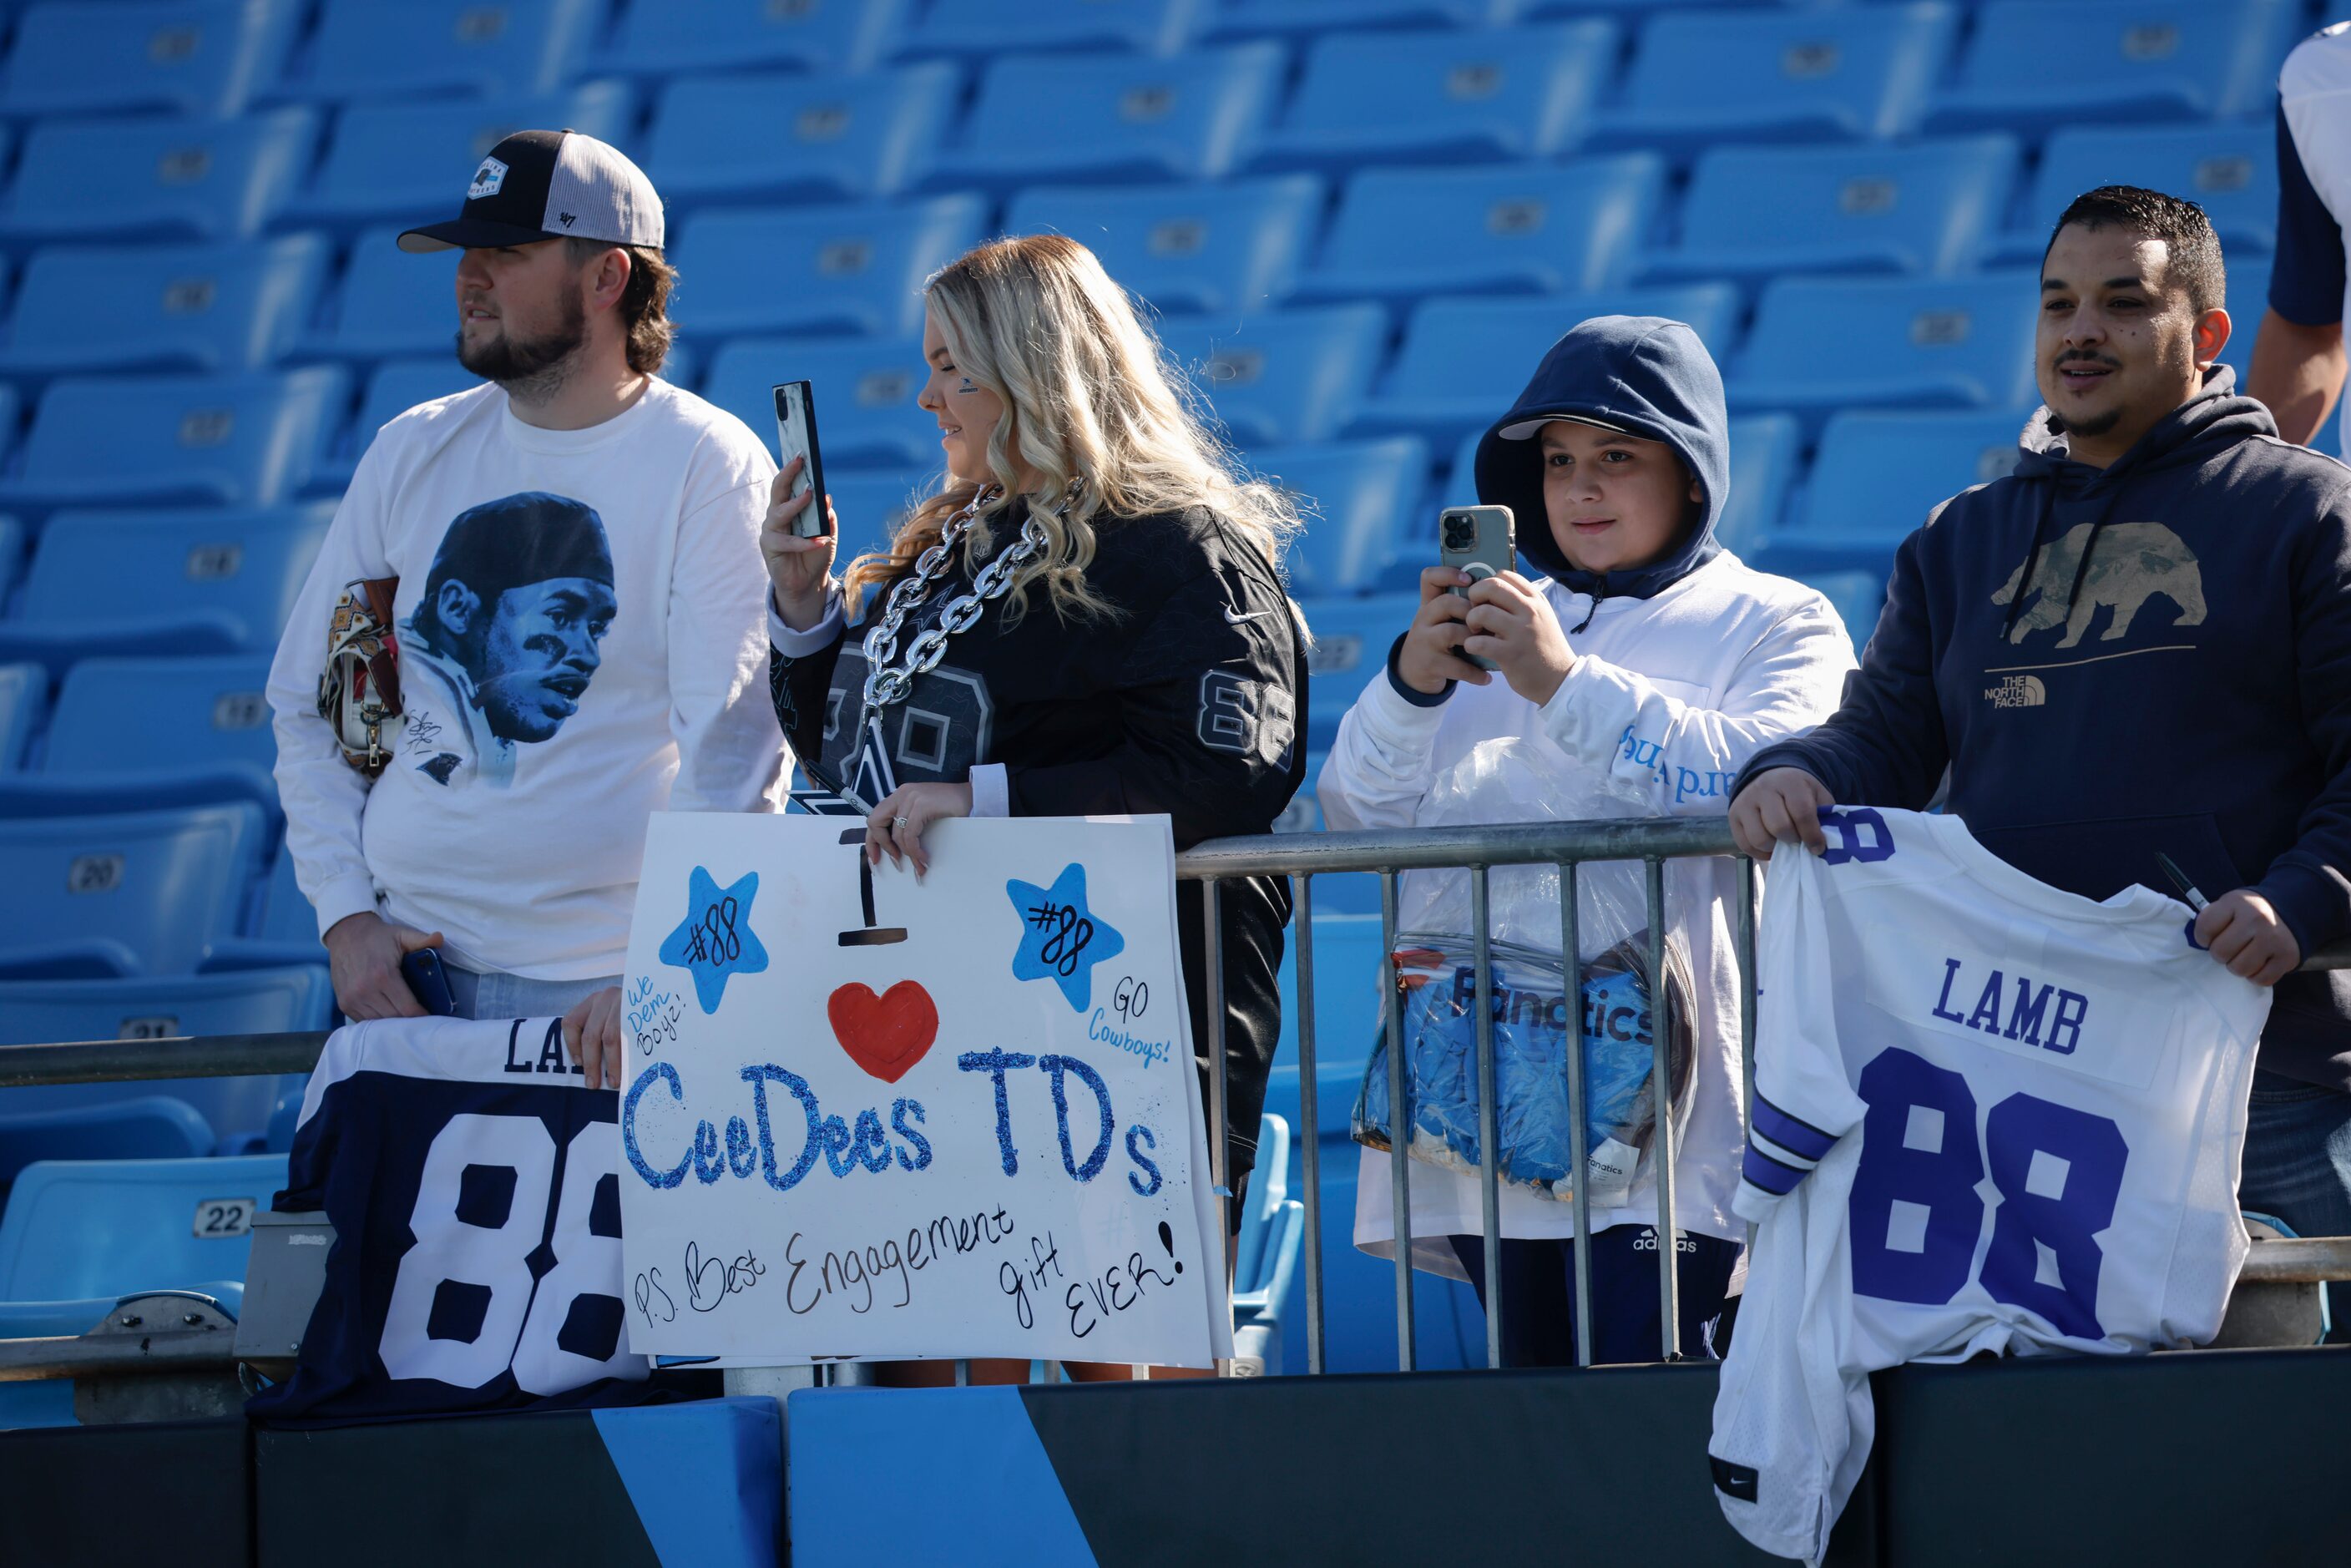
[[[1617,816],[1719,816],[1730,780],[1766,743],[1836,710],[1853,642],[1829,602],[1789,578],[1754,571],[1723,550],[1650,599],[1594,604],[1540,583],[1568,628],[1575,668],[1535,708],[1495,675],[1455,686],[1441,705],[1406,701],[1385,675],[1340,722],[1317,795],[1331,827],[1411,827],[1441,773],[1483,741],[1531,736],[1573,799],[1603,795]],[[1575,630],[1582,628],[1582,630]],[[1404,630],[1404,628],[1396,628]],[[1429,872],[1413,872],[1406,882]],[[1707,1237],[1744,1234],[1730,1213],[1740,1175],[1737,954],[1730,943],[1730,860],[1667,860],[1667,929],[1688,954],[1697,990],[1695,1098],[1674,1161],[1674,1222]],[[1413,889],[1406,889],[1406,903]],[[1479,1182],[1413,1164],[1413,1260],[1460,1276],[1448,1234],[1481,1234]],[[1575,1208],[1502,1185],[1502,1234],[1573,1237]],[[1643,1175],[1622,1206],[1594,1206],[1594,1229],[1655,1225]],[[1387,1154],[1364,1152],[1354,1239],[1392,1255]]]

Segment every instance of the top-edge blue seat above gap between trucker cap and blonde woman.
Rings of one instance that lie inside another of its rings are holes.
[[[863,5],[778,5],[776,0],[658,0],[630,5],[600,71],[755,71],[792,66],[853,75],[905,33],[912,0]]]

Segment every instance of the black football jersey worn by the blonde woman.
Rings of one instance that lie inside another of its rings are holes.
[[[1020,534],[1018,503],[994,520],[994,550]],[[882,748],[896,783],[964,783],[1002,764],[1013,816],[1164,813],[1176,846],[1267,832],[1305,778],[1307,665],[1281,578],[1230,522],[1204,510],[1096,522],[1089,588],[1107,616],[1056,614],[1041,583],[1027,614],[1006,623],[1006,599],[947,639],[938,668],[917,675],[882,712]],[[985,559],[959,559],[898,628],[900,656],[971,590]],[[776,719],[799,764],[823,788],[856,766],[865,719],[863,642],[889,590],[818,654],[769,651]],[[1223,889],[1225,1060],[1232,1171],[1255,1161],[1265,1077],[1281,1034],[1281,929],[1291,917],[1281,877]],[[1206,1074],[1204,896],[1178,884],[1176,912],[1192,1039]]]

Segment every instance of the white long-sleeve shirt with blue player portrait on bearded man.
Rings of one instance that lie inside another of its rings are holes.
[[[665,381],[588,430],[529,425],[496,386],[383,425],[270,668],[287,849],[322,933],[376,910],[444,933],[465,969],[623,969],[647,818],[771,811],[790,771],[766,698],[773,473],[738,418]],[[508,498],[522,522],[487,555],[477,531],[418,623],[451,522]],[[404,719],[369,783],[317,677],[336,595],[381,576],[400,578]]]

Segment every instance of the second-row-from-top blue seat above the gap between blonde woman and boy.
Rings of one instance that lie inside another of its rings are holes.
[[[1582,136],[1615,66],[1606,21],[1474,33],[1331,33],[1260,169],[1552,158]]]

